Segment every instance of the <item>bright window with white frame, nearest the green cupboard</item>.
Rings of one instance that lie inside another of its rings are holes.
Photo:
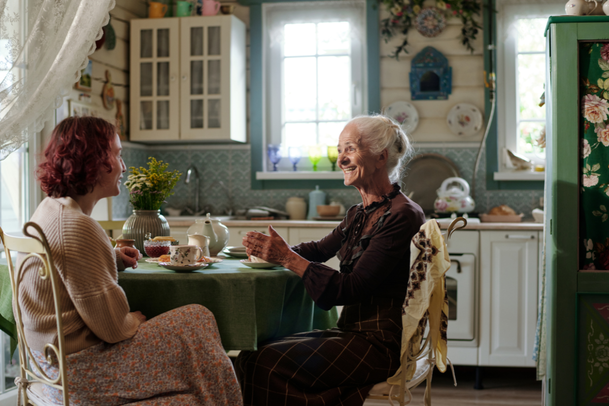
[[[544,164],[537,144],[546,125],[540,107],[546,82],[547,18],[565,13],[564,4],[504,4],[498,29],[499,170],[509,170],[505,149]]]

